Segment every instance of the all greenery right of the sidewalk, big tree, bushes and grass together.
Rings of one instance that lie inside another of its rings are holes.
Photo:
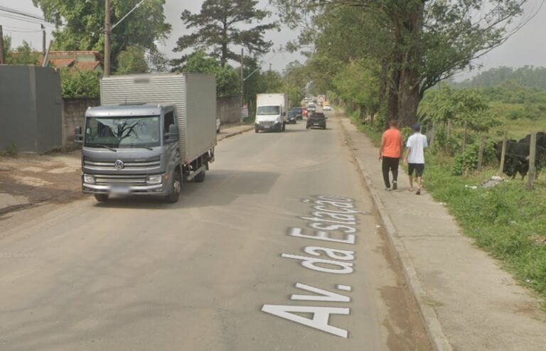
[[[479,247],[546,297],[546,176],[540,175],[535,190],[527,190],[520,177],[481,187],[499,175],[493,142],[501,141],[504,131],[513,139],[546,131],[546,70],[500,68],[474,80],[449,81],[471,68],[473,58],[503,43],[511,33],[508,23],[522,13],[521,3],[452,1],[443,8],[442,2],[413,0],[365,6],[274,2],[289,26],[307,25],[291,45],[314,48],[306,64],[311,92],[327,91],[376,144],[389,119],[398,119],[405,135],[408,126],[422,124],[432,139],[425,188]],[[477,21],[476,9],[483,13]],[[477,171],[481,138],[486,138],[484,160]]]

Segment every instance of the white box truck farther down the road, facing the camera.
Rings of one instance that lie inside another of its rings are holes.
[[[254,130],[284,131],[287,126],[288,97],[284,93],[258,94]]]

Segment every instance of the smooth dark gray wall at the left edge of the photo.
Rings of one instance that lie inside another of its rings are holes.
[[[0,149],[43,153],[62,145],[60,75],[53,68],[0,65]]]

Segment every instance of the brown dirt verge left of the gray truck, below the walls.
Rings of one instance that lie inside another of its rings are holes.
[[[65,202],[82,196],[80,153],[0,156],[0,192],[26,203],[1,204],[0,215],[44,201]]]

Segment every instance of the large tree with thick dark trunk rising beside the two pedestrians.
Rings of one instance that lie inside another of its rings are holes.
[[[473,58],[501,45],[525,23],[514,26],[511,21],[526,1],[274,0],[292,26],[305,13],[330,16],[346,7],[361,9],[381,28],[369,36],[390,33],[389,117],[400,118],[404,125],[417,119],[424,91],[469,67]]]

